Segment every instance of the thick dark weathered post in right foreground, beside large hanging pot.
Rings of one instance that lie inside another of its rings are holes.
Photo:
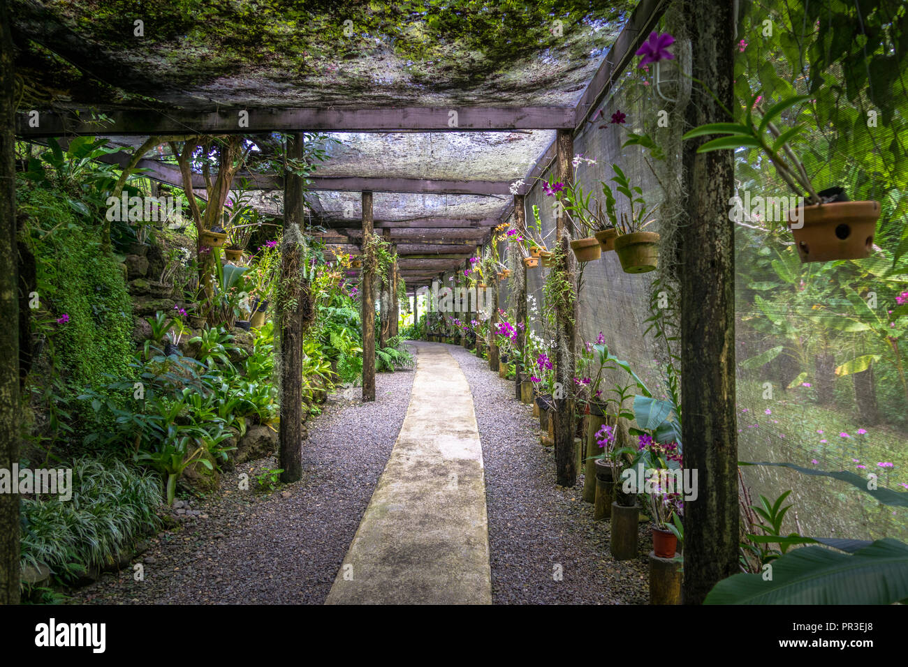
[[[684,0],[695,86],[686,127],[730,120],[735,106],[735,16],[731,3]],[[714,97],[716,99],[714,99]],[[680,119],[679,119],[680,120]],[[684,467],[697,473],[696,500],[685,503],[686,604],[700,604],[716,582],[738,569],[737,428],[735,419],[735,192],[731,151],[697,154],[706,141],[683,144],[681,235],[681,397]],[[708,249],[705,251],[704,249]],[[695,306],[696,304],[696,306]]]

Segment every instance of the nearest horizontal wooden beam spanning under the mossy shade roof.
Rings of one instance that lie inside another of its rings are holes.
[[[240,113],[248,123],[240,126]],[[573,128],[574,108],[566,106],[523,107],[400,107],[373,109],[268,108],[224,109],[193,113],[168,109],[114,111],[111,123],[99,127],[74,113],[44,111],[39,126],[29,127],[25,113],[16,114],[15,133],[21,137],[73,135],[116,136],[144,134],[254,134],[258,132],[489,132],[508,130],[558,130]]]

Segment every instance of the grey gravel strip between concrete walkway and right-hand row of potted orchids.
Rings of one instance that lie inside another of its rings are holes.
[[[583,476],[574,488],[556,486],[554,452],[539,445],[538,417],[514,398],[513,381],[468,350],[447,347],[467,376],[482,440],[492,602],[648,603],[648,525],[640,526],[641,557],[612,558],[608,522],[593,521],[583,502]]]

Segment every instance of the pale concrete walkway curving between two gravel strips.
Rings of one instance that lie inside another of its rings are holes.
[[[418,351],[410,407],[326,604],[490,604],[482,447],[467,378]]]

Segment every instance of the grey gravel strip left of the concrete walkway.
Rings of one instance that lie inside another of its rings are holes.
[[[158,534],[133,561],[144,581],[131,568],[104,574],[73,602],[323,603],[400,432],[413,376],[380,373],[374,403],[330,402],[308,422],[300,482],[265,495],[224,476],[220,493],[193,501],[208,518]],[[250,472],[253,488],[269,467],[273,458],[237,473]]]

